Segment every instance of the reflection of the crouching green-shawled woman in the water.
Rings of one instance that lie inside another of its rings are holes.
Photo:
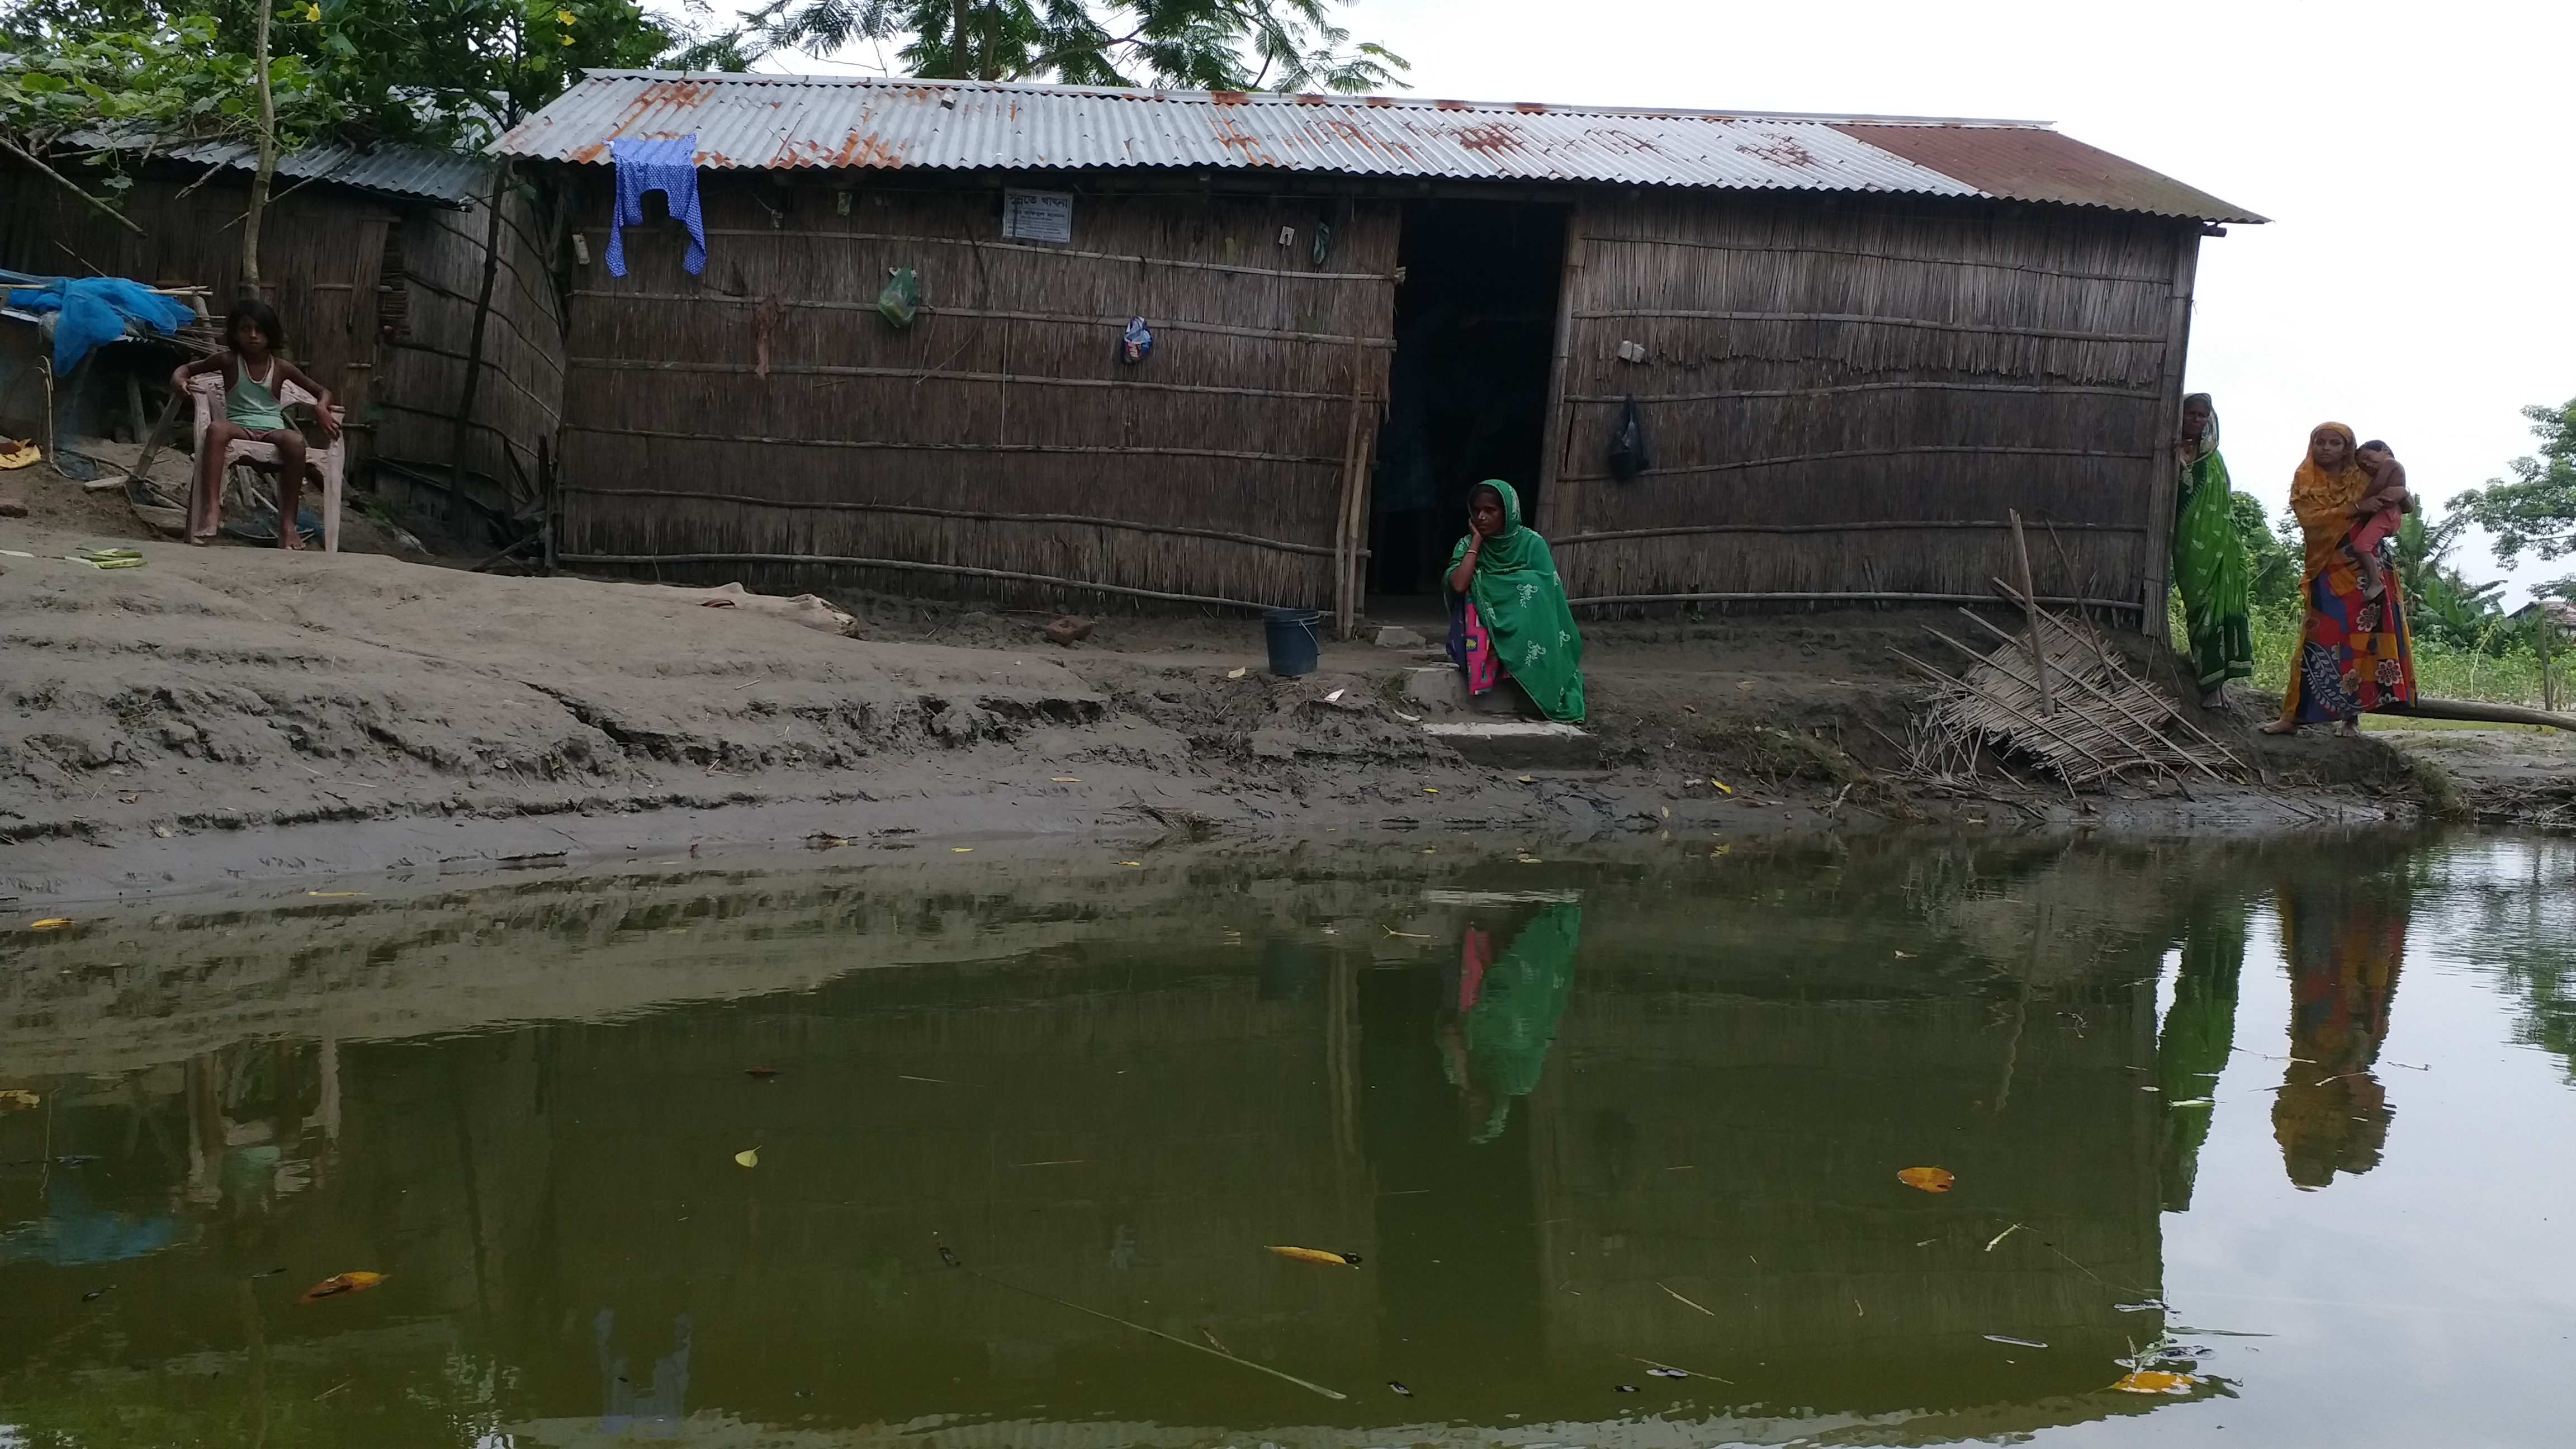
[[[1502,1137],[1512,1104],[1538,1091],[1548,1042],[1574,993],[1582,928],[1582,905],[1543,905],[1499,962],[1481,926],[1461,933],[1458,964],[1440,990],[1440,1065],[1458,1088],[1471,1142]]]

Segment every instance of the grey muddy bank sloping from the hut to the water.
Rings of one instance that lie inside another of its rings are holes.
[[[5,521],[0,897],[796,841],[1332,835],[1528,843],[1960,828],[2269,830],[2460,810],[2378,737],[2259,740],[2267,786],[2069,794],[2032,773],[1924,789],[1891,768],[1922,683],[1904,614],[1600,624],[1597,753],[1486,768],[1422,732],[1435,650],[1332,645],[1262,668],[1242,619],[842,601],[850,634],[703,596],[489,578],[381,554],[103,541]],[[129,541],[129,539],[113,539]],[[2519,768],[2519,766],[2517,766]],[[2473,761],[2450,779],[2476,789]],[[1723,781],[1723,786],[1718,784]]]

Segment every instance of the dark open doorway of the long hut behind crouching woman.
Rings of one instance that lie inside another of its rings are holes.
[[[1538,516],[1566,209],[1409,201],[1396,358],[1370,485],[1368,590],[1437,593],[1466,495],[1499,477]]]

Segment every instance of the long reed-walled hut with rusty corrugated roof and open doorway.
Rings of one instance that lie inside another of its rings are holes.
[[[649,193],[611,276],[613,144],[680,137],[703,271]],[[577,217],[564,562],[1345,627],[1479,477],[1579,601],[1984,598],[2020,511],[2154,627],[2259,222],[2020,121],[592,72],[497,152]]]

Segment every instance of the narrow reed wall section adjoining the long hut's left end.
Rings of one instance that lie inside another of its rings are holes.
[[[399,464],[412,487],[446,480],[456,462],[456,407],[464,400],[474,309],[492,237],[492,186],[484,180],[466,211],[417,209],[402,217],[384,248],[386,309],[376,384],[376,456]],[[466,420],[466,490],[487,511],[526,513],[538,503],[538,451],[564,410],[564,299],[549,258],[556,253],[554,209],[531,188],[502,199],[492,312],[482,330],[482,376]],[[394,469],[386,469],[394,472]]]

